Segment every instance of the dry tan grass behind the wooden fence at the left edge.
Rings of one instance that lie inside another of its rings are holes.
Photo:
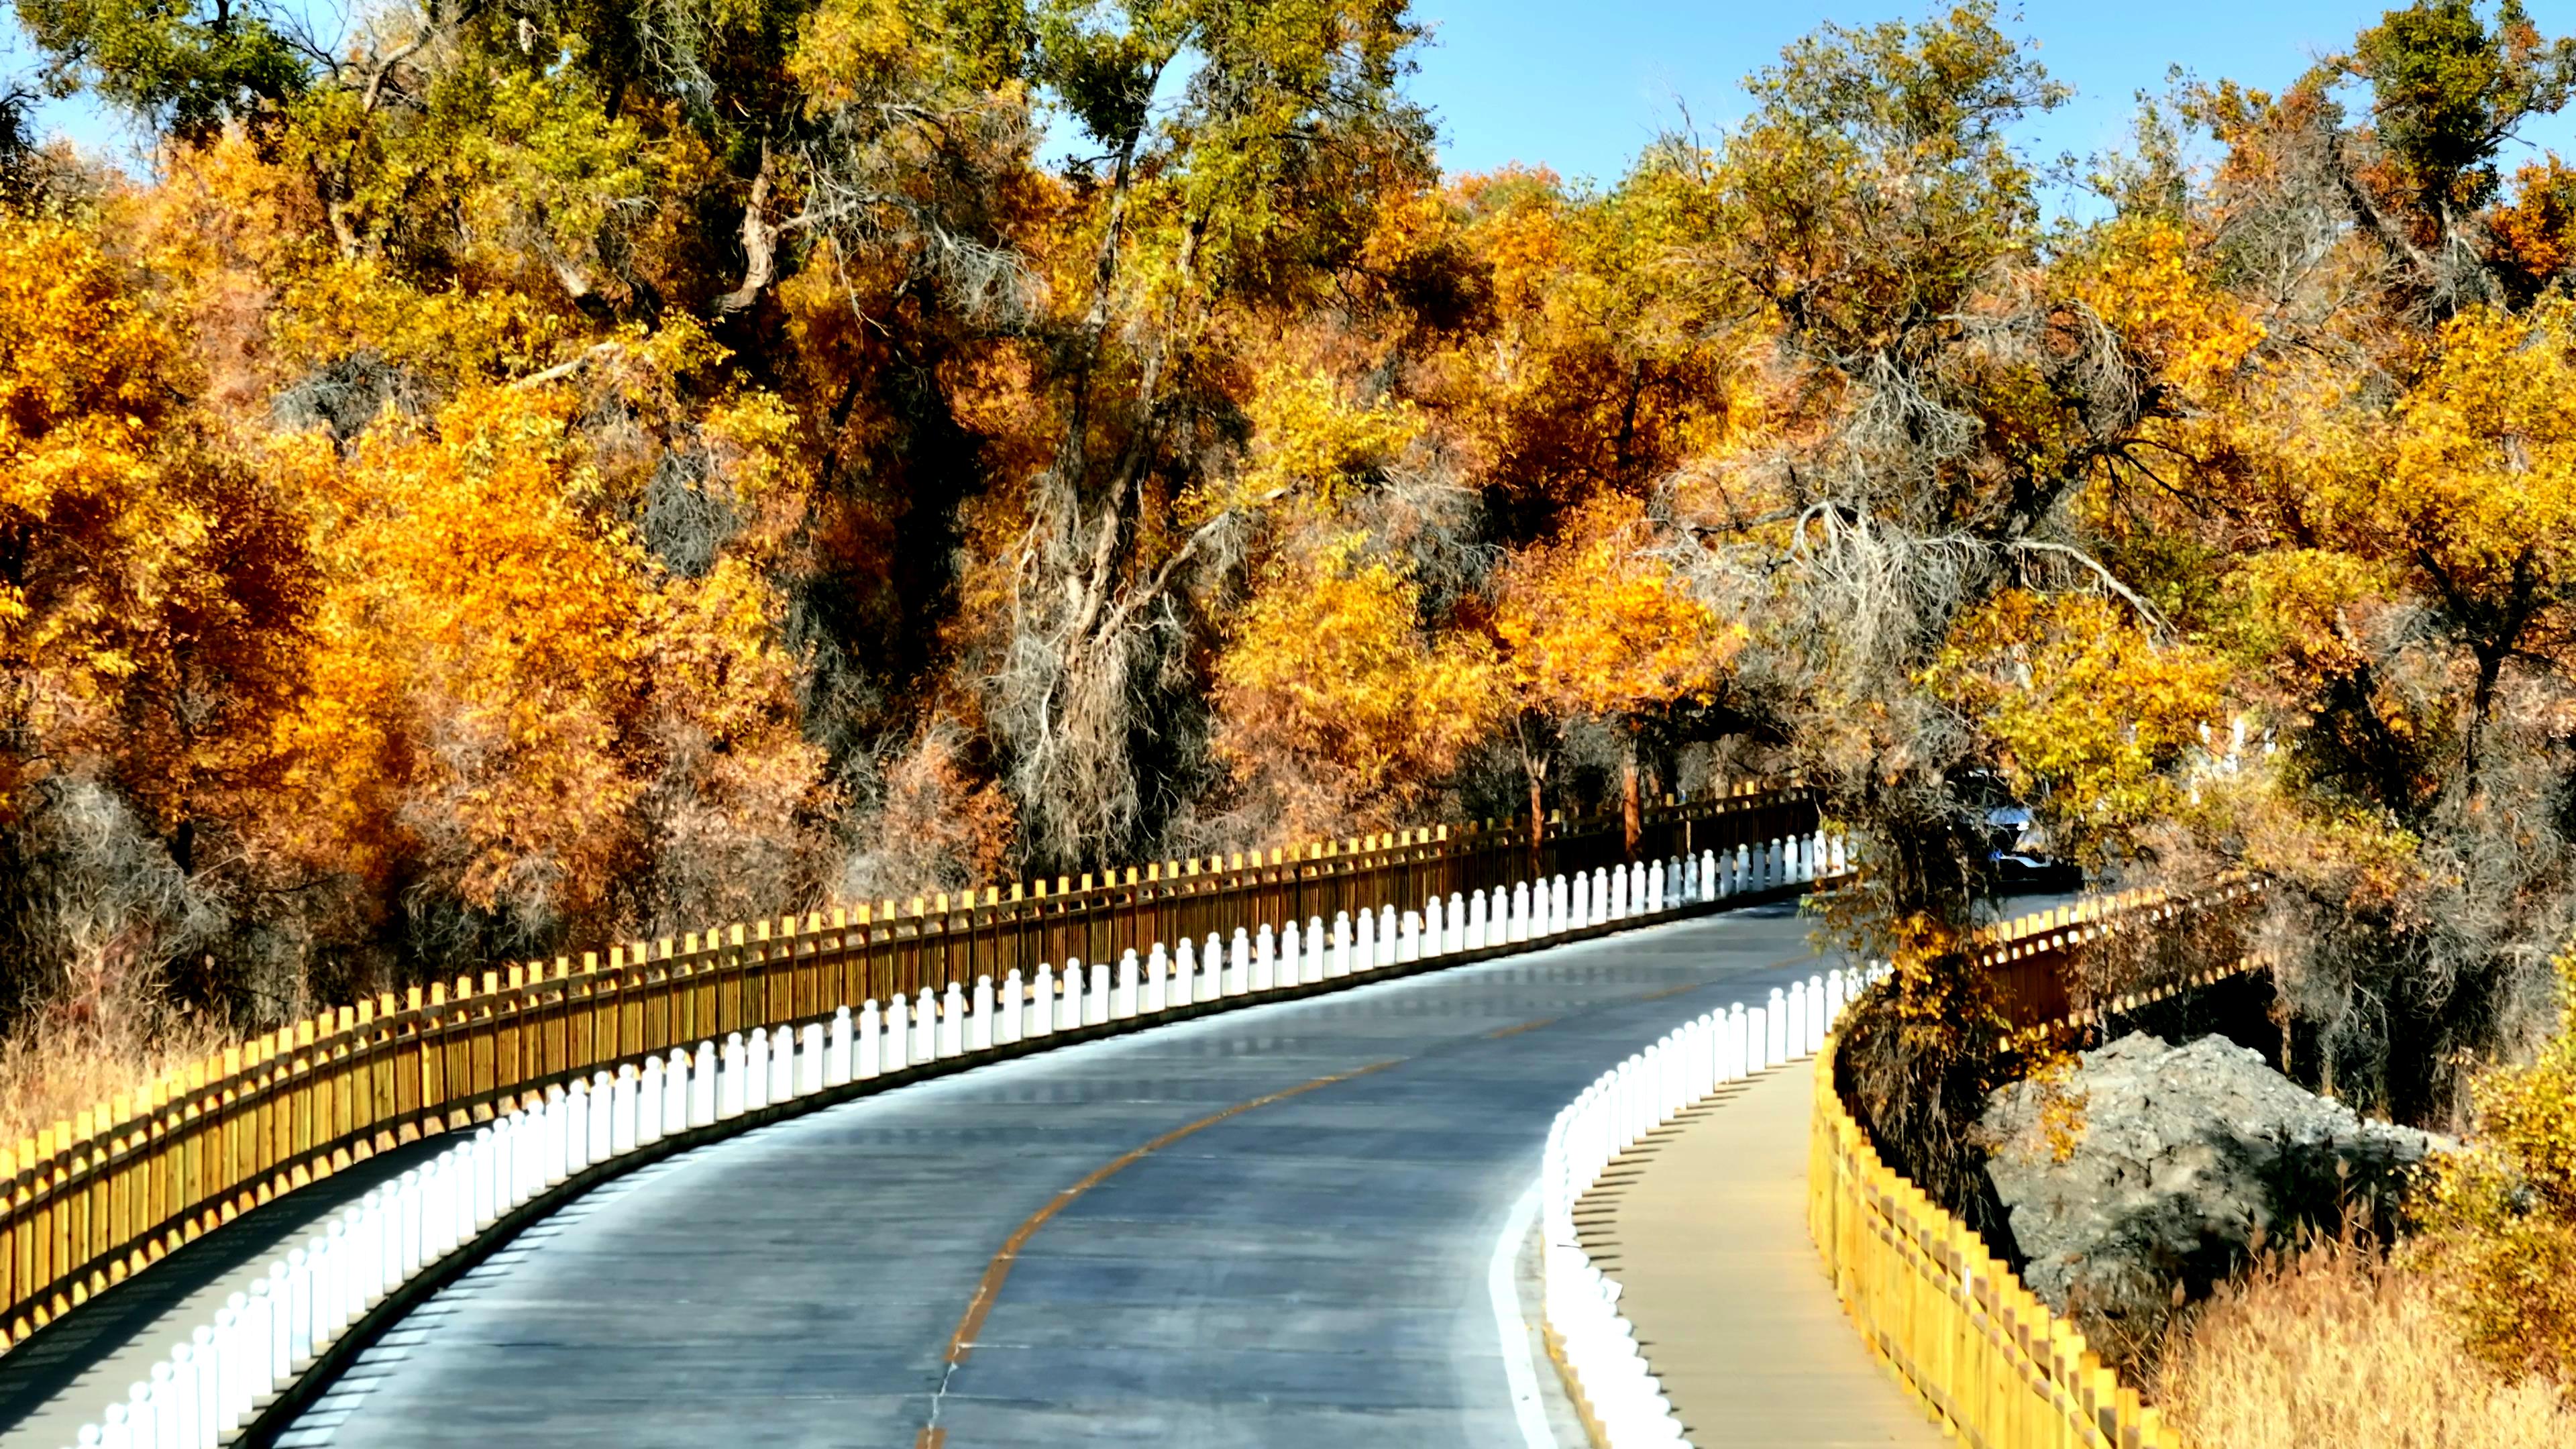
[[[0,1145],[70,1122],[155,1075],[232,1044],[224,1024],[173,1011],[149,987],[57,1000],[0,1042]]]

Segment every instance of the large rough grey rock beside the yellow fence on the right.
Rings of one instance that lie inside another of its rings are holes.
[[[2022,1281],[2112,1364],[2298,1227],[2383,1227],[2429,1132],[2362,1122],[2223,1036],[2123,1036],[1978,1119]]]

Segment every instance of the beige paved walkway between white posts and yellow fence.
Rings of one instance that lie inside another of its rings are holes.
[[[1945,1444],[1842,1315],[1806,1235],[1816,1073],[1721,1088],[1584,1196],[1584,1250],[1620,1284],[1698,1449]]]

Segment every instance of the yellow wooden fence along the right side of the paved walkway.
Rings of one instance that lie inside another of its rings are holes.
[[[1999,923],[1984,957],[2025,1031],[2063,1031],[2133,1011],[2177,990],[2257,967],[2143,982],[2138,993],[2076,1006],[2071,962],[2115,931],[2146,931],[2182,913],[2226,910],[2254,892],[2223,884],[2179,900],[2120,892]],[[1942,1426],[1976,1449],[2184,1449],[2138,1390],[2056,1318],[1986,1240],[1919,1186],[1880,1163],[1842,1104],[1839,1036],[1816,1055],[1806,1222],[1844,1312],[1870,1348]]]

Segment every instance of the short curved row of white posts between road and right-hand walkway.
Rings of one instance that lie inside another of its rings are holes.
[[[1762,1006],[1747,1008],[1739,1000],[1685,1021],[1602,1073],[1548,1127],[1538,1168],[1546,1315],[1610,1449],[1687,1446],[1690,1439],[1672,1415],[1664,1385],[1646,1366],[1636,1330],[1618,1312],[1618,1279],[1584,1256],[1574,1204],[1620,1152],[1718,1085],[1821,1052],[1842,1008],[1883,975],[1883,964],[1852,972],[1837,967],[1788,990],[1772,987]]]

